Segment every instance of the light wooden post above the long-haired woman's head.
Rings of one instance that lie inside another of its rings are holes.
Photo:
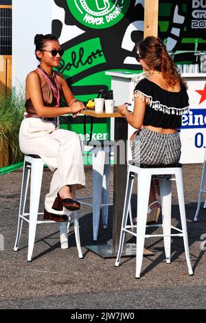
[[[144,38],[158,36],[159,0],[144,0]]]

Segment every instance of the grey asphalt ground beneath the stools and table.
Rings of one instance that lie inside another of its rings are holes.
[[[91,167],[85,168],[87,188],[79,197],[91,194]],[[73,227],[69,249],[60,249],[58,224],[39,225],[33,260],[27,263],[27,224],[23,225],[19,252],[13,252],[21,190],[22,170],[0,177],[1,227],[4,250],[0,250],[1,309],[205,309],[206,308],[206,210],[201,210],[197,223],[196,210],[201,180],[201,164],[183,166],[187,230],[194,276],[187,274],[182,238],[172,239],[172,262],[165,263],[161,238],[146,240],[155,256],[144,257],[141,279],[135,279],[135,258],[123,258],[114,267],[114,259],[103,259],[88,252],[93,244],[92,210],[80,210],[80,237],[84,258],[76,249]],[[45,169],[44,195],[48,191],[51,172]],[[111,169],[111,183],[113,180]],[[113,187],[111,185],[111,193]],[[135,193],[135,190],[134,190]],[[135,216],[135,194],[133,194]],[[112,207],[108,230],[100,223],[98,243],[111,239]],[[176,190],[172,197],[172,224],[179,226]],[[152,229],[150,229],[152,230]],[[153,229],[154,230],[154,229]],[[203,236],[205,234],[205,236]],[[202,247],[202,249],[201,249]],[[205,248],[204,248],[205,247]]]

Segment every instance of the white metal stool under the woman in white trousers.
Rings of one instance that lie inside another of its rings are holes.
[[[29,239],[28,239],[28,254],[27,261],[32,261],[32,252],[34,249],[34,241],[36,235],[36,225],[41,223],[56,223],[55,221],[38,221],[38,214],[43,214],[38,212],[39,199],[41,194],[41,183],[43,177],[43,167],[44,162],[38,155],[25,155],[24,166],[23,166],[23,180],[21,186],[21,200],[19,207],[19,219],[18,227],[16,233],[16,242],[14,245],[14,252],[18,250],[19,241],[21,238],[21,229],[23,220],[29,223]],[[30,181],[30,212],[25,213],[25,201],[27,197],[27,188]],[[80,233],[78,225],[77,213],[73,212],[73,227],[76,237],[76,244],[78,248],[79,258],[83,258],[82,250],[80,246]],[[27,219],[29,216],[29,219]],[[60,243],[62,249],[68,248],[68,234],[67,234],[67,221],[60,223]]]

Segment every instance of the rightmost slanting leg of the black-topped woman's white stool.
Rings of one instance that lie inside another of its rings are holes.
[[[187,238],[187,223],[186,223],[186,214],[185,214],[185,201],[184,201],[184,192],[183,192],[183,176],[181,168],[176,171],[176,190],[179,200],[179,210],[181,215],[181,225],[183,231],[183,241],[185,246],[185,257],[187,260],[187,267],[189,275],[193,275],[192,266],[190,263],[190,252]]]

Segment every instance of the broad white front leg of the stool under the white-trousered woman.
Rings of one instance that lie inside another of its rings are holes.
[[[36,221],[38,217],[38,205],[41,194],[41,181],[43,177],[43,161],[36,159],[32,164],[31,189],[30,189],[30,224],[27,261],[32,260],[34,240],[36,234]]]

